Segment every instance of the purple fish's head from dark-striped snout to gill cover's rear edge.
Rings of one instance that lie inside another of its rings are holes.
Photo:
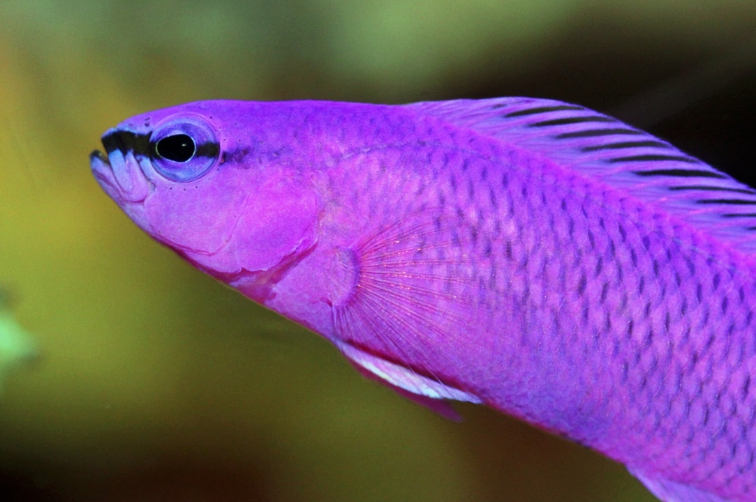
[[[141,229],[231,282],[314,243],[306,152],[270,103],[207,101],[136,115],[102,137],[91,170]]]

